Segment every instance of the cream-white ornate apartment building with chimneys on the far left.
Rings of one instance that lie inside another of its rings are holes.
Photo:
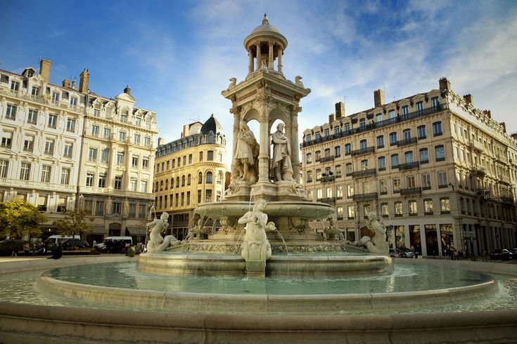
[[[45,59],[39,73],[0,70],[0,201],[37,205],[49,216],[44,236],[77,206],[89,210],[94,239],[141,227],[153,200],[155,113],[134,107],[129,87],[115,99],[89,91],[88,70],[78,88],[51,84],[50,71]]]

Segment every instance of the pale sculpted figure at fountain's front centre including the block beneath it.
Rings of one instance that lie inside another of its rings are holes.
[[[260,199],[253,205],[253,211],[248,211],[238,219],[238,223],[246,225],[241,255],[246,261],[248,276],[264,276],[266,260],[272,255],[266,231],[274,231],[276,226],[273,222],[267,223],[267,214],[262,212],[266,205],[267,202]]]

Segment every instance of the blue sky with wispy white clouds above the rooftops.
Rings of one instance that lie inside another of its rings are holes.
[[[480,110],[517,132],[517,1],[48,1],[0,0],[0,69],[39,71],[51,82],[88,68],[91,91],[110,98],[132,88],[136,106],[157,114],[165,142],[214,114],[231,145],[231,77],[248,73],[243,40],[269,23],[288,39],[287,79],[312,92],[300,102],[301,132],[346,113],[438,88],[471,93]],[[300,140],[301,142],[301,140]]]

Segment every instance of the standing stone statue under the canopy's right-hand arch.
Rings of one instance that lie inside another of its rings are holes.
[[[274,175],[277,181],[293,181],[293,166],[291,165],[291,145],[283,128],[285,125],[280,123],[276,126],[276,132],[271,134],[273,144],[273,165]]]

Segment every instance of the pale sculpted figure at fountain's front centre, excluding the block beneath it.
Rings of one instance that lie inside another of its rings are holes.
[[[276,226],[273,222],[267,223],[267,214],[262,213],[266,209],[266,205],[267,202],[260,199],[255,202],[252,211],[248,211],[242,218],[238,219],[238,223],[246,225],[242,251],[242,257],[245,260],[254,256],[256,252],[253,251],[260,251],[261,249],[264,250],[262,253],[265,253],[265,259],[271,257],[271,245],[267,240],[266,231],[274,231]]]

